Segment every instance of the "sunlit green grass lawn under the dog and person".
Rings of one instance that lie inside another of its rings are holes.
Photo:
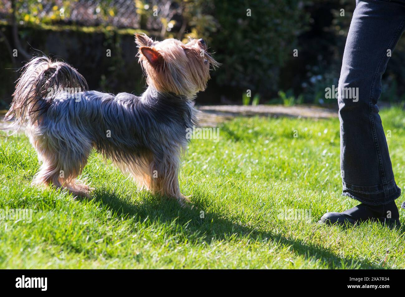
[[[403,187],[405,112],[381,116]],[[341,196],[337,118],[235,118],[219,128],[216,143],[192,140],[182,165],[193,209],[137,190],[97,154],[82,175],[94,199],[32,187],[39,165],[27,137],[1,137],[0,209],[34,212],[31,223],[0,220],[0,268],[405,267],[405,229],[317,223],[358,204]],[[284,209],[311,217],[283,219]]]

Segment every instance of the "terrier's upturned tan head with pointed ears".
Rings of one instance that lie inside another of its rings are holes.
[[[139,62],[147,73],[147,84],[161,93],[193,98],[205,89],[210,66],[220,65],[198,40],[190,40],[188,44],[176,39],[154,42],[145,35],[136,34],[136,43]]]

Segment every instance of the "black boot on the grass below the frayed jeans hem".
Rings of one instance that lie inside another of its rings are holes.
[[[346,223],[354,225],[364,221],[377,221],[389,226],[401,226],[398,208],[394,201],[385,205],[367,205],[362,203],[354,206],[352,209],[343,211],[343,213],[325,213],[319,222],[330,225],[335,223],[338,225],[345,225]]]

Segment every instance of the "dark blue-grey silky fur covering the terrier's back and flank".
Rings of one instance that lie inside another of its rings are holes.
[[[164,150],[180,152],[188,142],[186,128],[197,123],[191,101],[160,94],[151,87],[141,97],[98,91],[81,92],[80,100],[68,97],[61,93],[52,100],[42,116],[40,130],[66,135],[63,127],[68,126],[81,131],[98,152],[113,161],[134,162],[134,156],[148,151],[158,157],[162,157]],[[58,127],[58,123],[64,125]],[[62,139],[61,136],[61,141],[69,141]]]

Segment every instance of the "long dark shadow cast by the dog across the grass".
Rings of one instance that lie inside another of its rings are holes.
[[[200,211],[206,209],[206,205],[200,203],[201,197],[193,196],[194,207],[181,207],[176,201],[165,198],[157,198],[152,195],[145,195],[145,201],[141,204],[130,199],[112,193],[109,190],[96,190],[93,195],[97,201],[100,201],[109,210],[115,212],[118,217],[135,217],[141,221],[149,219],[159,223],[175,223],[182,228],[183,234],[190,240],[200,238],[201,242],[210,244],[212,240],[237,240],[241,237],[248,238],[251,241],[270,240],[284,246],[291,246],[293,253],[301,255],[305,259],[320,259],[324,261],[328,268],[347,268],[356,265],[365,269],[382,269],[380,265],[375,265],[367,260],[356,258],[342,259],[332,251],[322,246],[308,244],[302,240],[289,239],[280,234],[255,230],[252,227],[246,227],[234,223],[217,213],[205,213],[205,218],[200,218]],[[185,227],[187,226],[187,227]],[[235,235],[236,234],[236,239]]]

